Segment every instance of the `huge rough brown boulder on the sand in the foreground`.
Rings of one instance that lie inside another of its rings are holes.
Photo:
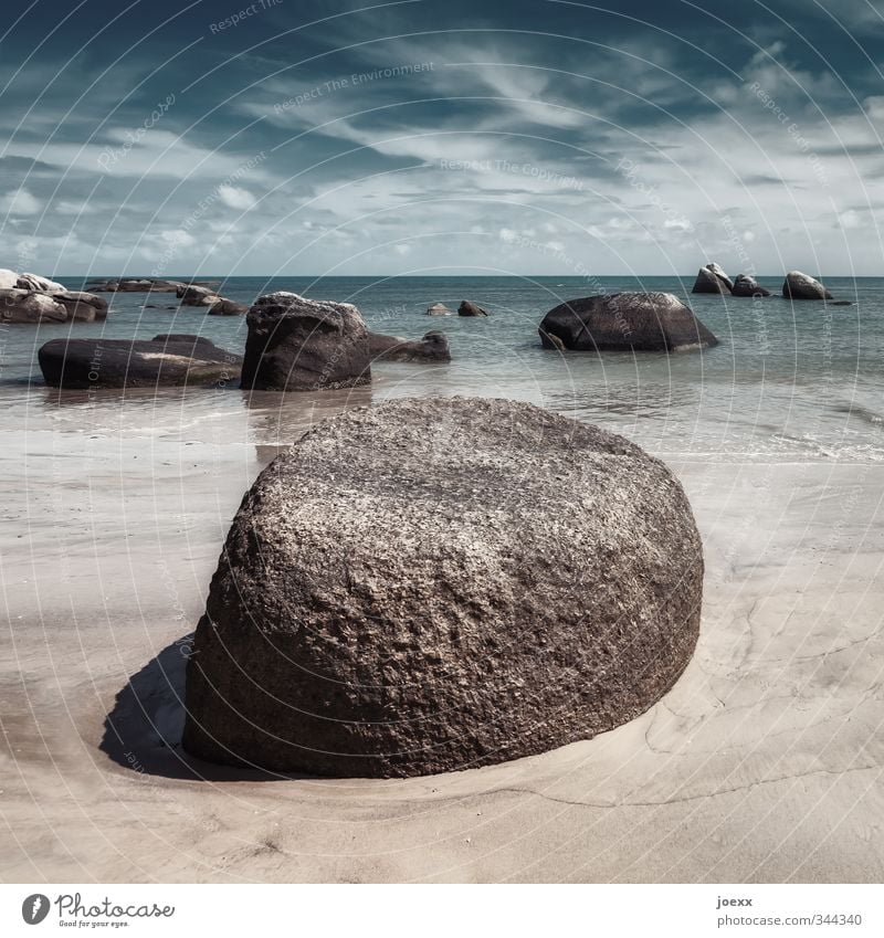
[[[622,438],[511,401],[349,411],[240,506],[188,662],[183,745],[387,777],[586,739],[677,679],[702,583],[681,485]]]

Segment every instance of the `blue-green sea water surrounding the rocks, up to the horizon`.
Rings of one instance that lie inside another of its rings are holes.
[[[60,277],[80,287],[77,277]],[[208,277],[207,277],[208,280]],[[781,278],[760,278],[777,294]],[[242,303],[276,289],[355,303],[375,331],[420,338],[442,329],[450,365],[387,363],[370,388],[248,396],[225,389],[59,392],[42,383],[36,350],[60,336],[150,338],[196,333],[241,352],[244,317],[179,308],[173,294],[105,294],[105,323],[0,326],[4,434],[150,436],[186,442],[290,443],[344,403],[404,396],[527,400],[622,433],[664,459],[736,462],[884,461],[884,278],[828,278],[850,306],[690,294],[693,277],[234,277],[220,292]],[[682,355],[545,350],[537,326],[558,303],[600,289],[681,296],[720,345]],[[472,299],[487,319],[430,317]],[[162,308],[166,305],[173,308]],[[34,439],[34,438],[32,438]],[[8,436],[7,445],[20,445]]]

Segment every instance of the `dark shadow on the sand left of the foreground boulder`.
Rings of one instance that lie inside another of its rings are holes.
[[[219,782],[307,778],[245,766],[217,766],[185,751],[185,671],[192,640],[192,633],[182,636],[129,677],[104,721],[99,749],[129,771],[168,779]]]

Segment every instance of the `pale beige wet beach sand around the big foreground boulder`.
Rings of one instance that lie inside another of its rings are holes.
[[[266,779],[164,742],[229,520],[276,452],[242,419],[4,450],[0,878],[882,881],[884,466],[657,453],[704,537],[703,631],[631,724],[439,777]]]

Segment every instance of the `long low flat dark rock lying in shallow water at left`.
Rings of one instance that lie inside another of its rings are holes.
[[[55,388],[155,388],[225,384],[242,359],[200,336],[148,340],[53,339],[38,352],[48,384]]]

